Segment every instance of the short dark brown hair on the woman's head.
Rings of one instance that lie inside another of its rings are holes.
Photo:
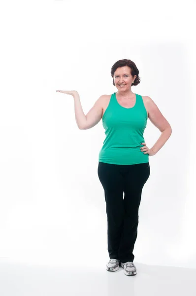
[[[140,83],[139,70],[137,69],[135,63],[133,63],[131,60],[128,60],[128,59],[119,60],[112,66],[111,68],[112,78],[114,77],[114,72],[116,71],[116,69],[124,66],[128,66],[131,68],[132,76],[137,75],[137,77],[134,79],[134,82],[131,84],[131,86],[139,84]],[[114,78],[113,78],[113,85],[115,86]]]

